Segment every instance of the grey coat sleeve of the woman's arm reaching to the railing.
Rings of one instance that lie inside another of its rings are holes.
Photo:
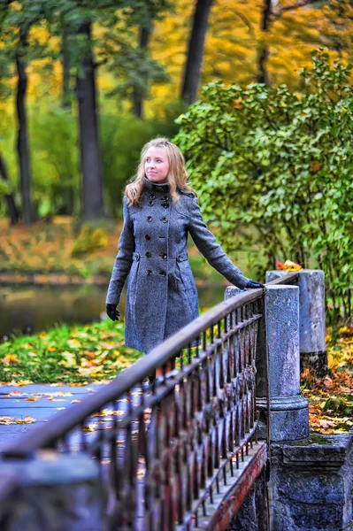
[[[190,206],[188,232],[196,243],[197,249],[203,254],[209,264],[223,274],[227,281],[234,284],[237,288],[244,289],[249,279],[238,267],[234,266],[233,262],[226,256],[225,251],[217,243],[215,236],[206,227],[196,197],[192,199]]]

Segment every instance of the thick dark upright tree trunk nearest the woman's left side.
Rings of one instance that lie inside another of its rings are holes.
[[[85,218],[102,218],[104,215],[102,164],[96,113],[96,73],[91,49],[91,25],[81,25],[80,33],[86,35],[88,47],[82,59],[82,72],[77,77],[79,102],[79,128],[82,173],[82,213]]]

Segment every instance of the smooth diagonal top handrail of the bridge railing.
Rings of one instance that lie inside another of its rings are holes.
[[[291,284],[295,283],[297,278],[298,273],[288,273],[266,285]],[[148,374],[154,373],[159,366],[163,366],[179,354],[180,350],[188,347],[190,342],[200,337],[207,328],[217,324],[220,319],[224,319],[229,312],[238,310],[243,304],[257,301],[262,294],[262,289],[251,289],[217,304],[186,327],[181,328],[165,342],[160,343],[149,352],[148,356],[128,367],[103,389],[88,396],[80,404],[70,405],[65,412],[50,419],[45,429],[37,426],[33,431],[20,437],[17,443],[10,444],[4,449],[3,458],[26,458],[35,450],[50,447],[59,438],[81,425],[90,415],[102,409],[105,404],[124,396],[130,389],[141,383]]]

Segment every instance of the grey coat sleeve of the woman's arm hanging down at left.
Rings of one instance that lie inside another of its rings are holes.
[[[121,291],[124,288],[127,275],[133,263],[134,253],[134,227],[128,212],[127,198],[123,200],[124,222],[121,229],[118,248],[119,252],[115,258],[114,266],[109,282],[106,304],[119,304]]]

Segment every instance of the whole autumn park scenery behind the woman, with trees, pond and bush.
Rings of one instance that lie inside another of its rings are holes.
[[[138,358],[123,321],[84,323],[104,313],[142,145],[166,135],[244,273],[324,269],[331,381],[303,381],[325,398],[318,427],[350,426],[352,22],[341,0],[1,4],[3,381],[102,380]],[[203,311],[224,284],[189,254]]]

